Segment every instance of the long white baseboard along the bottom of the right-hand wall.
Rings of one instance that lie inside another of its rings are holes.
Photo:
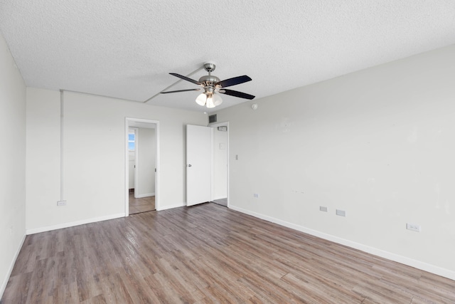
[[[356,243],[354,241],[341,239],[338,236],[332,236],[331,234],[324,234],[321,231],[316,231],[316,230],[313,230],[313,229],[306,228],[304,226],[300,226],[300,225],[289,223],[287,221],[282,221],[280,219],[275,219],[275,218],[273,218],[271,216],[266,216],[264,214],[259,214],[257,212],[250,211],[250,210],[247,210],[247,209],[242,209],[242,208],[237,207],[237,206],[230,205],[229,208],[232,209],[232,210],[235,210],[235,211],[242,212],[244,214],[248,214],[250,216],[255,216],[255,217],[259,218],[259,219],[264,219],[265,221],[271,221],[274,224],[279,224],[281,226],[285,226],[285,227],[288,227],[288,228],[291,228],[291,229],[294,229],[294,230],[297,230],[297,231],[301,231],[301,232],[304,232],[306,234],[311,234],[312,236],[317,236],[317,237],[319,237],[321,239],[326,239],[328,241],[333,241],[334,243],[340,243],[341,245],[345,245],[345,246],[348,246],[348,247],[351,247],[351,248],[355,248],[355,249],[358,249],[360,251],[364,251],[366,253],[371,253],[371,254],[373,254],[375,256],[380,256],[381,258],[387,258],[387,260],[390,260],[390,261],[395,261],[395,262],[398,262],[398,263],[402,263],[402,264],[405,264],[407,266],[412,266],[414,268],[421,269],[422,271],[428,271],[429,273],[434,273],[434,274],[437,274],[438,276],[444,276],[445,278],[450,278],[451,280],[455,280],[455,271],[449,271],[448,269],[441,268],[439,266],[434,266],[434,265],[429,264],[429,263],[424,263],[422,261],[417,261],[417,260],[414,260],[412,258],[407,258],[405,256],[400,256],[398,254],[391,253],[391,252],[388,252],[388,251],[383,251],[382,249],[378,249],[378,248],[374,248],[374,247],[371,247],[371,246],[367,246],[367,245],[364,245],[362,243]]]

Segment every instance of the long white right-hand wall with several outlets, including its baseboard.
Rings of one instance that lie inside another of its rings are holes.
[[[217,112],[231,208],[455,279],[454,80],[449,46]]]

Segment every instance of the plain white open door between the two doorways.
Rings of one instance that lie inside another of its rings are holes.
[[[186,206],[211,199],[212,128],[186,125]]]

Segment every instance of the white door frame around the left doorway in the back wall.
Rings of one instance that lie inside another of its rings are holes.
[[[147,124],[154,124],[155,127],[155,140],[156,140],[156,154],[155,154],[155,209],[159,210],[161,206],[161,189],[160,189],[160,156],[159,156],[159,151],[160,151],[160,139],[159,139],[159,120],[146,120],[142,118],[133,118],[133,117],[125,117],[125,135],[124,135],[124,162],[125,162],[125,216],[129,216],[129,151],[128,151],[128,132],[130,127],[130,123],[132,122],[141,122],[141,123],[147,123]],[[134,170],[136,172],[136,170]],[[136,183],[136,181],[134,181]]]

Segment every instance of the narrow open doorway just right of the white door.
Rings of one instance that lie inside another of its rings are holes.
[[[212,132],[212,201],[229,206],[229,122],[209,125]]]

